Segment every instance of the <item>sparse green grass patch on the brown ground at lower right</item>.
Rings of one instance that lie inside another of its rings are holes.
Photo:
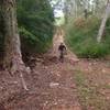
[[[85,74],[77,70],[75,81],[78,90],[78,98],[84,110],[110,110],[106,98],[99,94],[99,87],[92,86]]]

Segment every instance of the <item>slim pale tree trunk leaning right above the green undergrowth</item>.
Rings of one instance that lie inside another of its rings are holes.
[[[97,42],[98,43],[101,42],[101,38],[102,38],[102,35],[103,35],[103,31],[105,31],[106,23],[107,23],[107,20],[109,18],[109,14],[110,14],[110,2],[108,2],[108,4],[107,4],[106,12],[103,14],[103,19],[102,19],[102,22],[101,22],[101,25],[100,25],[100,29],[99,29],[99,33],[98,33],[98,36],[97,36]]]

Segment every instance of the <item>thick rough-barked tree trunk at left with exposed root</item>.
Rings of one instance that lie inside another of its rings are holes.
[[[4,68],[7,68],[11,75],[19,73],[24,89],[28,89],[22,75],[25,66],[22,62],[20,50],[15,0],[1,0],[1,7],[4,21]]]

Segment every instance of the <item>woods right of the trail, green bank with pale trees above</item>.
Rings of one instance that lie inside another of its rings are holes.
[[[110,54],[110,1],[67,0],[66,42],[79,57]]]

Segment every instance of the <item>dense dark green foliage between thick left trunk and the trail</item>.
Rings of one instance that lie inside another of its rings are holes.
[[[18,0],[18,22],[22,52],[47,50],[54,30],[53,10],[47,0]]]

